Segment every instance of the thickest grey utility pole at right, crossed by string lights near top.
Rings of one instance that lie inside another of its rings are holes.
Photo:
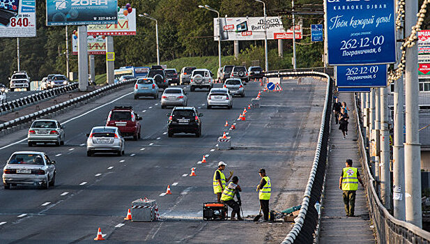
[[[409,0],[405,9],[405,34],[410,36],[411,27],[417,24],[418,0]],[[416,43],[415,43],[416,44]],[[406,50],[405,104],[406,104],[406,143],[405,143],[405,199],[406,221],[422,228],[421,209],[421,145],[418,117],[418,48],[417,45]]]

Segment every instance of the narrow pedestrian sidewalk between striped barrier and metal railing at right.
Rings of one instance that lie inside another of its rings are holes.
[[[353,111],[352,93],[338,96],[339,101],[345,101],[351,109],[349,114],[348,136],[344,139],[335,119],[331,121],[330,154],[328,158],[327,175],[325,178],[325,196],[321,212],[320,243],[376,243],[367,206],[366,192],[359,184],[355,197],[355,216],[346,217],[342,191],[339,189],[341,169],[345,167],[345,160],[351,158],[353,167],[358,167],[363,177],[364,169],[358,152],[358,136],[355,130],[355,115]]]

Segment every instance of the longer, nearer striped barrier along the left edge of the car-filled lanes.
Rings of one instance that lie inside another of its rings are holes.
[[[12,128],[12,127],[14,127],[16,125],[20,125],[21,123],[30,122],[33,119],[36,119],[36,118],[38,118],[40,116],[45,116],[45,115],[50,114],[52,112],[56,112],[56,111],[58,111],[60,109],[63,109],[63,108],[68,107],[70,105],[73,105],[76,102],[82,102],[84,100],[87,100],[89,98],[97,96],[100,93],[103,93],[105,91],[108,91],[108,90],[111,90],[111,89],[115,89],[118,86],[123,86],[125,84],[134,83],[136,80],[137,79],[127,79],[127,80],[125,80],[123,82],[118,82],[118,83],[115,83],[115,84],[110,84],[108,86],[103,86],[100,89],[97,89],[95,91],[91,91],[90,93],[86,93],[85,95],[79,96],[77,98],[73,98],[71,100],[67,100],[66,102],[61,102],[58,105],[47,107],[46,109],[39,110],[38,112],[34,112],[33,114],[28,114],[28,115],[25,115],[25,116],[21,116],[20,118],[13,119],[11,121],[7,121],[5,123],[1,123],[0,124],[0,131],[1,130],[5,130],[7,128]]]

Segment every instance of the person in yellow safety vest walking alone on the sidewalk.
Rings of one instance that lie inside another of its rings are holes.
[[[347,159],[345,162],[344,169],[339,178],[339,188],[343,190],[345,214],[348,217],[355,217],[355,192],[358,190],[358,183],[364,188],[363,182],[360,177],[360,173],[357,168],[353,167],[353,160]]]

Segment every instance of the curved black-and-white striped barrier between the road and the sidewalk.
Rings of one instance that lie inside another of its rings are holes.
[[[309,69],[308,69],[309,70]],[[330,135],[330,107],[332,104],[333,81],[330,75],[316,71],[295,71],[268,73],[266,77],[308,77],[318,76],[327,79],[327,89],[325,91],[325,104],[323,115],[321,116],[321,128],[318,135],[312,170],[307,181],[305,195],[302,200],[302,207],[296,218],[293,229],[286,236],[283,244],[286,243],[313,243],[316,224],[319,214],[315,209],[315,204],[321,199],[323,190],[325,166],[328,153],[328,137]]]

